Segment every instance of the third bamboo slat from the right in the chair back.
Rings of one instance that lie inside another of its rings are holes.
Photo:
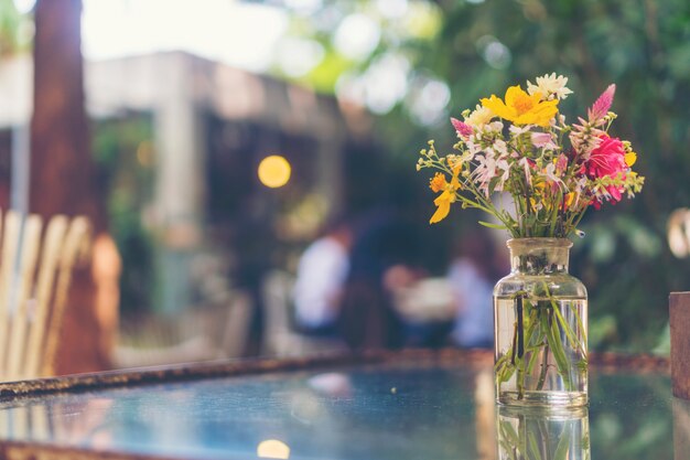
[[[10,332],[10,344],[8,347],[7,379],[21,378],[21,370],[24,363],[26,351],[26,329],[29,314],[26,311],[26,300],[33,288],[33,276],[36,268],[36,258],[41,246],[42,218],[39,215],[30,215],[23,228],[21,260],[19,260],[19,277],[15,279],[15,291],[12,301],[14,312],[12,314],[12,331]]]

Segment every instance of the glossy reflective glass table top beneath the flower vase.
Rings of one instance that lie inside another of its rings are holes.
[[[193,459],[672,459],[690,405],[668,375],[591,371],[590,406],[497,408],[489,366],[341,365],[0,403],[0,445]],[[676,457],[678,458],[678,457]]]

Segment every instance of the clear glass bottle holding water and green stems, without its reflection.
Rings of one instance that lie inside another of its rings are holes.
[[[494,288],[496,400],[587,404],[587,292],[568,274],[572,242],[508,240],[510,275]]]

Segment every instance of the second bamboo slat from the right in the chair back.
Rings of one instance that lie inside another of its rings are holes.
[[[45,344],[55,272],[67,231],[67,217],[64,215],[56,215],[51,218],[45,231],[41,266],[36,279],[36,311],[29,332],[24,378],[37,377],[41,372],[41,359],[44,354],[43,345]]]

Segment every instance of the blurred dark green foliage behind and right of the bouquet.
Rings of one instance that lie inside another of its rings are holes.
[[[346,13],[366,13],[362,1],[351,7],[325,3],[349,8]],[[675,258],[665,242],[670,213],[690,204],[690,111],[682,103],[690,100],[690,3],[439,0],[428,6],[440,21],[436,33],[381,41],[351,68],[365,75],[378,56],[389,53],[410,63],[407,95],[377,124],[391,161],[409,163],[414,146],[430,137],[439,145],[451,143],[448,117],[420,125],[412,116],[414,84],[421,76],[450,87],[445,115],[474,106],[486,92],[546,72],[570,76],[580,97],[568,99],[563,110],[584,113],[581,101],[594,100],[601,88],[616,82],[616,110],[625,116],[612,135],[645,153],[636,164],[647,178],[645,193],[617,204],[616,213],[592,212],[584,218],[581,228],[587,236],[575,245],[572,271],[590,289],[591,322],[610,324],[615,319],[601,346],[651,350],[668,320],[668,293],[687,290],[690,279],[690,264]],[[419,195],[430,212],[429,195]],[[600,232],[602,227],[606,232]]]

